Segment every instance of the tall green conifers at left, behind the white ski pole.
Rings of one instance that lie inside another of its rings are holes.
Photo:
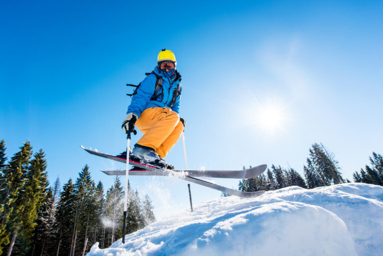
[[[118,176],[104,194],[85,165],[75,181],[52,186],[44,152],[23,143],[7,162],[0,142],[0,255],[79,256],[100,242],[109,247],[122,237],[124,188]],[[128,184],[126,233],[155,221],[152,200]]]

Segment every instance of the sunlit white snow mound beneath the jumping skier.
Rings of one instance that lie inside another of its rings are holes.
[[[201,203],[87,256],[383,255],[383,187],[288,187]]]

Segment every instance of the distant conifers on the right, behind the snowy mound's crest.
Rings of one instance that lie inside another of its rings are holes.
[[[353,175],[354,182],[363,182],[383,186],[383,157],[373,152],[370,157],[371,166],[366,165],[365,170]],[[251,166],[250,166],[251,167]],[[245,167],[243,167],[245,169]],[[280,165],[271,166],[266,174],[251,179],[241,180],[238,184],[240,191],[269,191],[289,186],[298,186],[305,189],[330,186],[350,182],[342,177],[339,162],[334,154],[327,150],[323,144],[314,143],[309,149],[309,157],[303,167],[304,178],[293,168],[283,168]],[[222,193],[222,196],[229,196]]]

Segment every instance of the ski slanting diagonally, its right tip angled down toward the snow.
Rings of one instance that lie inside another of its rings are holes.
[[[83,146],[81,146],[81,148],[86,150],[88,153],[90,153],[92,155],[101,156],[101,157],[115,160],[115,161],[118,161],[121,163],[126,163],[126,159],[115,157],[115,156],[105,154],[105,153],[100,153],[98,151],[94,151],[91,149],[86,149]],[[148,170],[148,172],[153,172],[153,174],[157,173],[157,174],[160,174],[161,176],[174,176],[176,178],[186,180],[186,181],[189,181],[189,182],[192,182],[192,183],[195,183],[195,184],[207,187],[207,188],[211,188],[214,190],[225,192],[225,193],[231,194],[233,196],[237,196],[237,197],[252,198],[252,197],[258,197],[258,196],[262,195],[263,193],[265,193],[265,191],[243,192],[243,191],[233,190],[233,189],[229,189],[229,188],[226,188],[223,186],[216,185],[216,184],[208,182],[208,181],[200,180],[200,179],[185,175],[186,172],[161,169],[161,168],[157,168],[157,167],[154,167],[151,165],[142,164],[142,163],[135,162],[135,161],[129,161],[129,164],[136,166],[136,167],[144,168],[144,169]],[[266,169],[266,167],[265,167],[265,169]],[[103,171],[103,172],[105,173],[107,171]],[[135,172],[135,171],[130,171],[129,174],[131,174],[132,172]],[[109,174],[109,175],[113,175],[113,174]],[[114,175],[116,175],[116,174],[114,174]]]

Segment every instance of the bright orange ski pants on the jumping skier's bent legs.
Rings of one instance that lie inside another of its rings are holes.
[[[161,107],[145,109],[136,126],[144,133],[137,144],[154,149],[162,158],[177,143],[184,130],[180,116],[170,108]]]

